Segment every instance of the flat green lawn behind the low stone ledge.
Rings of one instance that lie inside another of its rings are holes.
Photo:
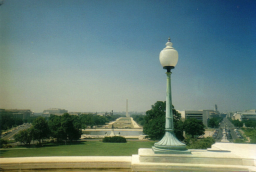
[[[151,148],[152,141],[128,141],[127,143],[103,143],[85,141],[74,145],[48,145],[40,148],[1,149],[0,157],[35,157],[35,156],[132,156],[139,148]],[[14,147],[21,148],[21,147]]]

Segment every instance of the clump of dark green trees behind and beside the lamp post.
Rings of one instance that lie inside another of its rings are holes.
[[[157,101],[151,106],[151,110],[146,112],[146,116],[132,116],[140,125],[143,124],[143,132],[153,140],[163,138],[165,133],[165,102]],[[194,138],[196,135],[204,134],[203,122],[194,118],[181,120],[181,114],[172,106],[174,133],[179,140],[184,140],[183,132]]]

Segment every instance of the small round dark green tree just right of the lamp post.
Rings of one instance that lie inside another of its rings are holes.
[[[204,124],[202,121],[197,120],[195,118],[188,118],[184,121],[184,131],[191,135],[194,138],[195,135],[203,135],[204,134]]]

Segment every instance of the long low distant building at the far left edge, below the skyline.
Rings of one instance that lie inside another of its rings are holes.
[[[27,119],[32,112],[29,109],[0,109],[1,119],[20,118]]]

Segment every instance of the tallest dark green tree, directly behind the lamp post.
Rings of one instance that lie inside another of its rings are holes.
[[[146,111],[144,117],[143,132],[153,140],[160,140],[165,133],[165,109],[166,102],[157,101],[151,106],[151,110]],[[172,105],[174,133],[177,138],[183,140],[183,125],[181,121],[181,114],[174,109]],[[179,122],[178,122],[179,121]]]

